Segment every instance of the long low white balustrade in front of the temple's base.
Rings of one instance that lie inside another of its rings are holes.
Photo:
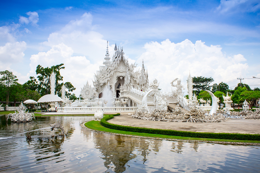
[[[94,113],[104,111],[104,113],[135,112],[138,107],[58,107],[57,112],[64,113]]]

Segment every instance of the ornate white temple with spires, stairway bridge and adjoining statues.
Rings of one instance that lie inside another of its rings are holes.
[[[171,82],[173,87],[177,87],[172,92],[161,92],[158,90],[159,82],[155,79],[149,84],[148,73],[142,62],[141,70],[135,70],[137,65],[129,64],[124,57],[123,48],[115,45],[112,59],[109,57],[108,42],[102,66],[94,75],[93,85],[86,82],[81,88],[81,98],[73,103],[66,102],[64,108],[59,112],[84,112],[91,113],[103,110],[106,113],[114,112],[134,112],[138,107],[143,106],[143,97],[146,97],[146,104],[150,111],[154,109],[167,109],[168,104],[174,108],[179,104],[185,109],[189,104],[197,102],[190,99],[189,102],[183,97],[184,89],[181,80],[176,78]],[[190,77],[190,76],[189,76]],[[191,77],[190,77],[191,78]],[[189,78],[189,80],[190,80]],[[177,84],[174,84],[174,82]],[[188,82],[192,86],[192,81]],[[151,91],[154,89],[153,91]],[[189,87],[189,96],[192,98],[192,88]],[[151,91],[148,95],[145,95]]]

